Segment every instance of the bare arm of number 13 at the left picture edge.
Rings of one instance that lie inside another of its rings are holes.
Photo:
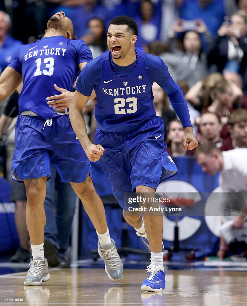
[[[10,96],[21,84],[22,75],[12,67],[6,67],[0,76],[0,100]]]

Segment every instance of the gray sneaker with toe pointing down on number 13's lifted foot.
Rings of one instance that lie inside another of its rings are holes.
[[[111,239],[111,244],[102,247],[98,241],[99,256],[105,262],[105,271],[108,277],[113,282],[118,282],[123,278],[123,263],[118,255],[115,242]]]

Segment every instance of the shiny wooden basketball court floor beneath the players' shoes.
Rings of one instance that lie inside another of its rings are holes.
[[[123,279],[114,283],[107,278],[102,263],[91,268],[95,265],[78,262],[72,268],[50,269],[50,280],[41,286],[23,286],[26,272],[8,273],[20,271],[21,266],[10,269],[1,264],[2,273],[8,274],[0,275],[0,305],[247,305],[247,264],[234,264],[211,267],[201,262],[176,267],[166,263],[167,285],[162,293],[141,291],[148,275],[142,264],[133,266],[141,269],[125,269]]]

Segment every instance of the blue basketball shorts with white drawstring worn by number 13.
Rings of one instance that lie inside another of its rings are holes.
[[[19,115],[15,129],[15,151],[12,159],[12,178],[51,177],[50,162],[62,182],[80,183],[88,172],[90,162],[72,129],[69,115],[45,120]]]

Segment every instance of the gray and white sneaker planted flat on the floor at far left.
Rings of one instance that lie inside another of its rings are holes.
[[[42,282],[47,282],[50,279],[51,276],[48,273],[48,263],[46,258],[31,258],[29,265],[31,267],[27,272],[27,276],[24,278],[25,286],[38,286],[42,284]]]

